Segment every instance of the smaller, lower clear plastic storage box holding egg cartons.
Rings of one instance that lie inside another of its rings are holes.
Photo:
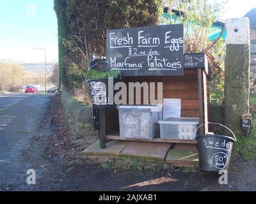
[[[169,118],[158,122],[163,139],[195,140],[195,130],[199,125],[198,118]]]

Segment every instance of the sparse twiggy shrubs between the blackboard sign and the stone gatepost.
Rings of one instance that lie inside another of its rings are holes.
[[[219,40],[214,45],[208,39],[208,34],[214,32],[212,27],[223,8],[223,2],[211,3],[209,0],[169,0],[170,24],[184,24],[185,27],[185,52],[207,52],[209,63],[212,68],[212,80],[210,84],[211,103],[222,105],[224,100],[225,86],[225,41]],[[163,15],[163,6],[158,11]],[[177,14],[178,13],[178,14]],[[159,24],[164,24],[164,18],[159,18]]]

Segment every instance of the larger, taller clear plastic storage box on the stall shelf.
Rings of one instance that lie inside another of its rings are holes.
[[[159,131],[163,105],[117,106],[121,138],[152,140]],[[158,127],[158,128],[157,128]]]

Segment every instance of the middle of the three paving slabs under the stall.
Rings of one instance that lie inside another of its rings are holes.
[[[170,146],[170,143],[130,142],[120,156],[164,161]]]

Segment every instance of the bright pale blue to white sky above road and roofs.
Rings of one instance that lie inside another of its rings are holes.
[[[17,62],[58,61],[58,24],[54,0],[0,0],[0,61]],[[227,1],[227,0],[210,0]],[[256,0],[229,0],[220,20],[243,17],[256,8]]]

